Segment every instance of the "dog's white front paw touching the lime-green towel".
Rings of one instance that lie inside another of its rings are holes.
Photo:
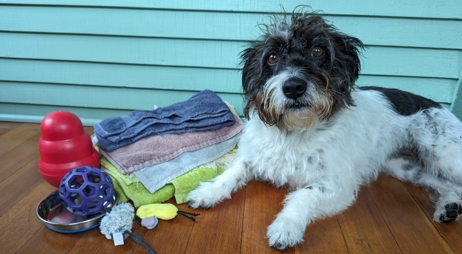
[[[192,208],[211,208],[224,199],[231,198],[230,193],[216,188],[214,182],[204,182],[188,194],[186,203]]]

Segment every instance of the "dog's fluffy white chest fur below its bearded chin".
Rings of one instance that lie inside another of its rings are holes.
[[[245,161],[255,178],[275,185],[304,187],[322,177],[324,147],[307,135],[285,135],[270,130],[242,137]]]

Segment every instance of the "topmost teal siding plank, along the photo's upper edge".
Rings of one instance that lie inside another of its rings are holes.
[[[326,14],[336,15],[360,15],[360,16],[390,16],[390,17],[419,17],[419,18],[462,18],[460,5],[457,1],[438,2],[431,0],[419,1],[410,0],[403,2],[374,2],[371,5],[361,4],[362,2],[336,0],[325,0],[316,2],[314,10],[323,10]],[[182,0],[171,1],[144,1],[144,0],[102,0],[97,3],[91,0],[59,1],[51,0],[46,4],[37,2],[37,0],[0,0],[0,4],[11,5],[53,5],[53,6],[86,6],[86,7],[117,7],[117,8],[137,8],[137,9],[170,9],[170,10],[190,10],[190,11],[232,11],[232,12],[262,12],[275,13],[281,12],[280,0],[269,0],[260,2],[221,2],[221,1],[191,1]],[[284,1],[284,7],[287,12],[291,12],[293,7],[306,5],[302,0]]]

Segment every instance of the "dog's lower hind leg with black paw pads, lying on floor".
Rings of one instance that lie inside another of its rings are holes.
[[[387,173],[427,189],[435,203],[435,221],[450,223],[462,214],[462,186],[445,179],[442,175],[428,173],[419,163],[406,156],[392,158],[388,162]]]

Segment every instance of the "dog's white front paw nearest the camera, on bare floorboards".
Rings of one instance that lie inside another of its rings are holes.
[[[267,238],[270,246],[286,249],[303,242],[306,225],[292,218],[277,217],[268,227]]]

